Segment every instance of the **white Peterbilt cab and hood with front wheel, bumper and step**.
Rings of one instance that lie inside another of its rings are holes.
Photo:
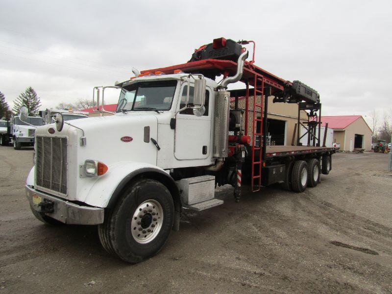
[[[36,130],[26,191],[39,220],[98,225],[107,251],[138,262],[178,229],[183,206],[223,203],[214,198],[214,176],[204,172],[220,165],[221,147],[214,149],[218,84],[173,73],[141,75],[118,87],[115,115],[64,122],[58,114],[55,124]],[[221,100],[228,107],[228,95]],[[176,182],[185,174],[194,182],[187,187],[201,193],[190,192],[186,203]]]

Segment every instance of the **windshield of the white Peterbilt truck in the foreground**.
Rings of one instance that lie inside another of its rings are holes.
[[[138,82],[121,89],[117,112],[121,110],[169,110],[176,80]]]

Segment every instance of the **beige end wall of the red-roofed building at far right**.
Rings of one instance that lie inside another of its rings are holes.
[[[372,132],[368,127],[368,124],[365,122],[365,120],[362,117],[357,119],[355,122],[349,124],[345,128],[345,144],[343,150],[352,151],[352,149],[354,148],[355,134],[364,135],[363,148],[367,151],[371,150]],[[351,140],[352,140],[352,145],[350,149]]]

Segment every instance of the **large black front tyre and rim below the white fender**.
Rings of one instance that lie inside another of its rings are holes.
[[[143,179],[127,188],[98,227],[103,247],[122,260],[140,262],[161,250],[174,221],[174,203],[162,183]]]

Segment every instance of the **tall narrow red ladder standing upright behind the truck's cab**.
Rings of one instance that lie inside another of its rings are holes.
[[[264,102],[264,78],[254,75],[253,80],[253,129],[252,129],[252,192],[260,191],[261,188],[261,168],[262,168],[262,140],[263,140],[263,102]],[[260,104],[257,103],[256,96],[261,96]],[[257,114],[260,113],[260,118]],[[259,130],[259,133],[257,132]],[[259,137],[256,145],[256,136]],[[258,155],[258,156],[256,156]],[[256,180],[256,181],[255,181]]]

